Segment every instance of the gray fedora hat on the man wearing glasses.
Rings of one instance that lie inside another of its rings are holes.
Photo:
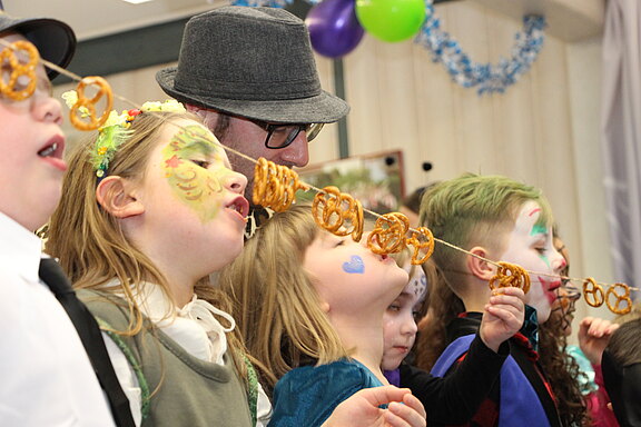
[[[185,27],[178,67],[156,75],[181,102],[278,123],[331,123],[349,106],[320,88],[305,23],[276,8],[223,7]]]

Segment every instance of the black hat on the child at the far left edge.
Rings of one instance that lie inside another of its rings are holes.
[[[12,18],[0,10],[0,33],[17,32],[33,43],[40,57],[66,68],[76,52],[76,34],[65,22],[49,18]],[[2,50],[3,46],[0,46]],[[47,68],[49,79],[58,76]]]

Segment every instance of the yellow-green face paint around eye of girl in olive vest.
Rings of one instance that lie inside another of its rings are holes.
[[[176,196],[203,222],[216,218],[221,208],[224,182],[231,170],[225,166],[223,148],[211,133],[196,125],[180,128],[162,149],[161,167]]]

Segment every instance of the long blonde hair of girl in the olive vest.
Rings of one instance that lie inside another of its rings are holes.
[[[134,181],[144,179],[149,156],[160,142],[162,129],[183,119],[200,122],[188,112],[142,112],[131,123],[130,137],[122,142],[109,161],[109,176]],[[178,129],[178,125],[176,125]],[[167,279],[140,249],[125,235],[117,218],[102,209],[96,199],[98,178],[90,162],[91,150],[98,135],[79,143],[68,158],[69,169],[62,181],[62,197],[47,230],[46,251],[60,259],[60,265],[75,288],[99,289],[125,296],[131,314],[127,330],[116,331],[132,336],[141,331],[144,321],[134,294],[140,291],[144,281],[152,282],[170,296]],[[213,248],[213,250],[215,250]],[[114,279],[118,284],[105,285]],[[195,288],[203,299],[229,311],[230,304],[223,292],[203,278]],[[225,321],[225,320],[223,320]],[[241,338],[229,334],[229,347],[243,349]],[[246,367],[231,351],[241,376]]]

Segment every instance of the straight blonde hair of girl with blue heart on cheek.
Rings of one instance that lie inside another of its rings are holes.
[[[309,206],[275,214],[219,277],[247,349],[263,365],[268,390],[302,363],[348,357],[303,268],[305,251],[319,232],[325,231],[314,222]]]

